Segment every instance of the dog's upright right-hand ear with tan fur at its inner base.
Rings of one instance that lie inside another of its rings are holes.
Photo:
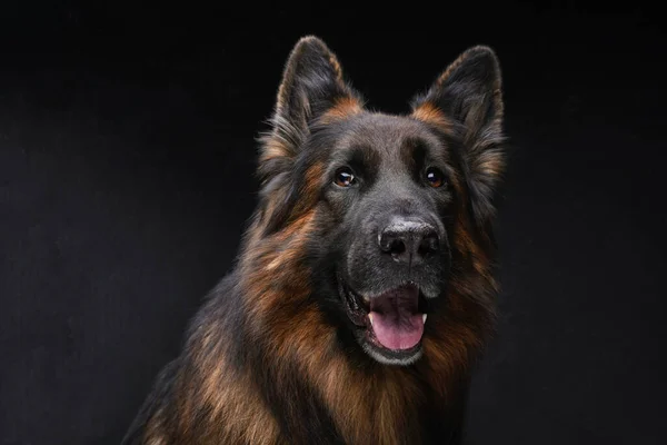
[[[412,116],[457,137],[469,172],[472,210],[479,222],[494,214],[491,198],[505,167],[501,149],[502,92],[494,50],[468,49],[412,101]]]

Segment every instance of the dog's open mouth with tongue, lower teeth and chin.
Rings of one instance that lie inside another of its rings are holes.
[[[387,364],[419,358],[428,303],[416,284],[406,283],[372,297],[341,284],[341,294],[348,317],[360,328],[358,339],[374,358]]]

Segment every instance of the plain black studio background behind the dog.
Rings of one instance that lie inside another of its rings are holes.
[[[407,111],[468,46],[505,77],[501,318],[472,444],[665,443],[657,10],[2,2],[0,438],[116,444],[229,270],[282,63],[322,37]],[[408,9],[409,8],[409,9]]]

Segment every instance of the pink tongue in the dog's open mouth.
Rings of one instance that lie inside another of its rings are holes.
[[[406,314],[402,310],[389,314],[370,312],[372,330],[380,345],[388,349],[409,349],[417,345],[424,334],[421,314]]]

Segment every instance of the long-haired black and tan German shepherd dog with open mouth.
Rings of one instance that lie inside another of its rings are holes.
[[[494,327],[498,60],[390,116],[316,37],[285,67],[259,204],[125,444],[455,444]]]

